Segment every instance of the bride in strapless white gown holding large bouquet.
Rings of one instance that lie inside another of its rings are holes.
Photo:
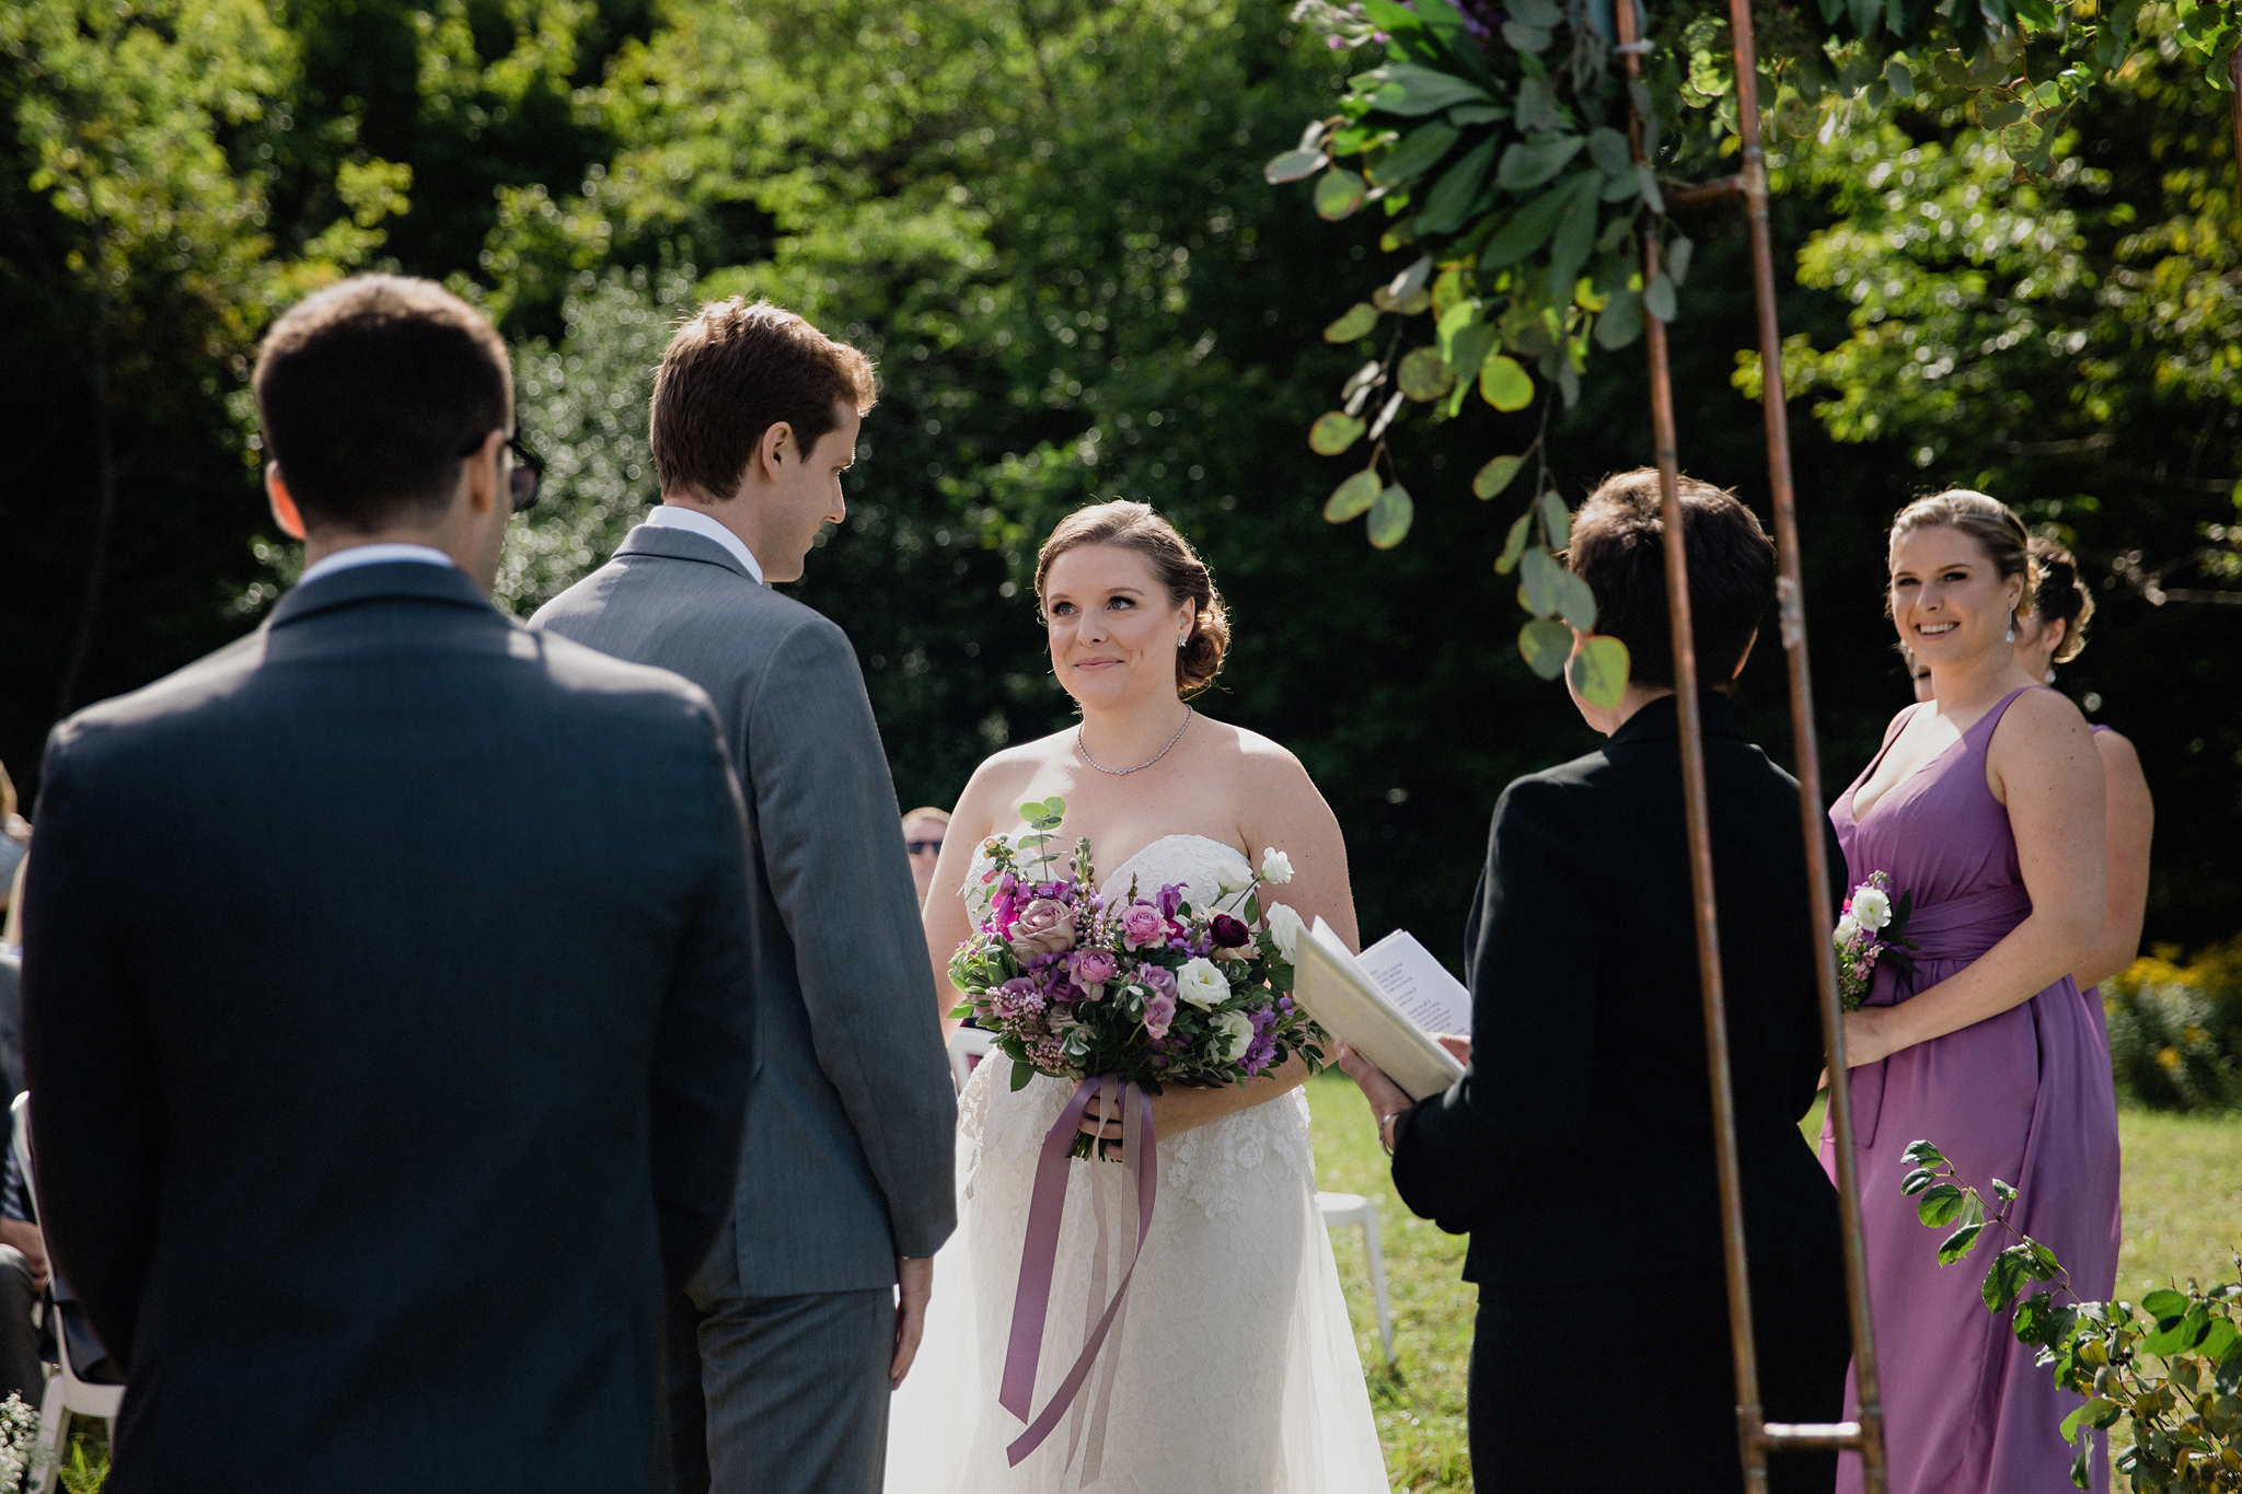
[[[1045,542],[1036,594],[1051,667],[1078,730],[980,766],[944,838],[926,943],[948,1003],[948,956],[980,916],[980,842],[1022,829],[1018,806],[1060,795],[1060,842],[1087,838],[1108,898],[1134,878],[1182,883],[1193,905],[1242,887],[1249,851],[1282,851],[1296,878],[1267,889],[1356,943],[1338,822],[1291,753],[1184,703],[1222,665],[1229,623],[1206,567],[1143,504],[1101,504]],[[1258,856],[1256,856],[1258,860]],[[986,894],[982,894],[986,896]],[[888,1431],[888,1494],[1383,1494],[1363,1366],[1316,1214],[1307,1068],[1152,1100],[1159,1203],[1128,1306],[1074,1409],[1018,1467],[1022,1422],[998,1407],[1029,1192],[1072,1080],[1011,1086],[991,1055],[960,1102],[957,1234],[935,1257],[926,1335]],[[1094,1118],[1083,1122],[1096,1131]],[[1119,1122],[1105,1136],[1119,1138]],[[1105,1145],[1108,1154],[1121,1142]],[[1103,1176],[1099,1176],[1103,1174]],[[1137,1239],[1121,1167],[1069,1165],[1058,1270],[1034,1404],[1074,1364]],[[1099,1223],[1103,1214],[1103,1230]],[[1105,1241],[1105,1270],[1096,1270]],[[1103,1427],[1099,1407],[1105,1409]]]

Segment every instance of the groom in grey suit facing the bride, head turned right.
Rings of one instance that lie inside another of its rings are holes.
[[[531,618],[706,690],[747,793],[753,1140],[670,1308],[682,1492],[877,1494],[957,1221],[957,1100],[872,703],[847,636],[769,589],[843,517],[870,405],[854,347],[767,302],[702,307],[655,376],[661,506]]]

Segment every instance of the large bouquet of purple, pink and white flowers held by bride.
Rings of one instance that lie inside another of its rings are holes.
[[[1112,905],[1096,891],[1090,842],[1058,865],[1054,831],[1065,800],[1022,804],[1034,833],[982,842],[989,914],[951,956],[951,981],[971,1015],[1013,1059],[1011,1084],[1117,1075],[1161,1084],[1244,1084],[1305,1053],[1323,1064],[1323,1028],[1291,1001],[1300,914],[1260,889],[1291,880],[1267,851],[1244,887],[1195,907],[1182,887],[1141,896],[1134,880]],[[1087,1138],[1083,1151],[1087,1156]]]

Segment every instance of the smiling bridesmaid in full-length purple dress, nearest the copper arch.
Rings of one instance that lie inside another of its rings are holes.
[[[2056,1391],[1980,1281],[1998,1245],[1937,1263],[1899,1180],[1933,1140],[2049,1245],[2072,1290],[2116,1281],[2119,1140],[2101,1012],[2072,970],[2103,932],[2103,768],[2078,708],[2011,652],[2027,596],[2025,526],[1982,493],[1917,499],[1892,522],[1890,609],[1935,699],[1894,717],[1829,811],[1847,883],[1915,894],[1915,974],[1886,965],[1845,1017],[1870,1310],[1890,1494],[2056,1494],[2076,1402]],[[1823,1165],[1834,1171],[1823,1131]],[[1847,1416],[1852,1409],[1847,1407]],[[2094,1458],[2105,1490],[2107,1460]],[[1863,1487],[1854,1454],[1838,1492]]]

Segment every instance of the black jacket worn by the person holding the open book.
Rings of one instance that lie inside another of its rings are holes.
[[[1738,735],[1715,694],[1704,737],[1751,1261],[1823,1274],[1838,1263],[1838,1225],[1798,1133],[1823,1064],[1798,782]],[[1408,1207],[1471,1234],[1464,1279],[1720,1266],[1670,697],[1601,753],[1502,793],[1466,947],[1471,1068],[1403,1115],[1395,1140]]]

